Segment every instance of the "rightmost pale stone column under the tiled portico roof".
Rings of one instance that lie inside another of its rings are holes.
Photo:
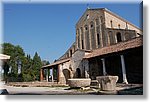
[[[124,56],[123,56],[123,55],[120,55],[120,57],[121,57],[123,83],[128,84],[127,77],[126,77],[126,68],[125,68]]]

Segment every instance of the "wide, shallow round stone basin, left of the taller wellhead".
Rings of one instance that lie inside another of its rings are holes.
[[[86,87],[90,86],[91,79],[84,79],[84,78],[75,78],[75,79],[68,79],[68,85],[72,88],[74,87]]]

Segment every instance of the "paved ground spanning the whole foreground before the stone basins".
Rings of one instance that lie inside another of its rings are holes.
[[[6,89],[5,94],[10,95],[142,95],[143,87],[139,84],[117,84],[114,92],[99,91],[91,88],[90,90],[70,89],[69,87],[14,87],[1,83],[1,90]],[[8,92],[8,93],[7,93]]]

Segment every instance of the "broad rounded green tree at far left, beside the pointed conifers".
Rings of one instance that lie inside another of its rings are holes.
[[[2,44],[3,53],[7,54],[10,57],[10,60],[7,61],[4,65],[4,77],[13,77],[14,79],[17,79],[18,76],[18,61],[23,62],[24,60],[24,51],[22,47],[19,45],[14,46],[11,43],[3,43]],[[21,66],[23,63],[21,63]],[[7,67],[6,67],[7,66]],[[11,67],[11,74],[8,75],[9,67]]]

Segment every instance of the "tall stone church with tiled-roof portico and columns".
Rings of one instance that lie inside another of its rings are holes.
[[[143,32],[106,8],[87,9],[76,23],[76,41],[43,66],[41,81],[115,75],[118,83],[143,83]]]

